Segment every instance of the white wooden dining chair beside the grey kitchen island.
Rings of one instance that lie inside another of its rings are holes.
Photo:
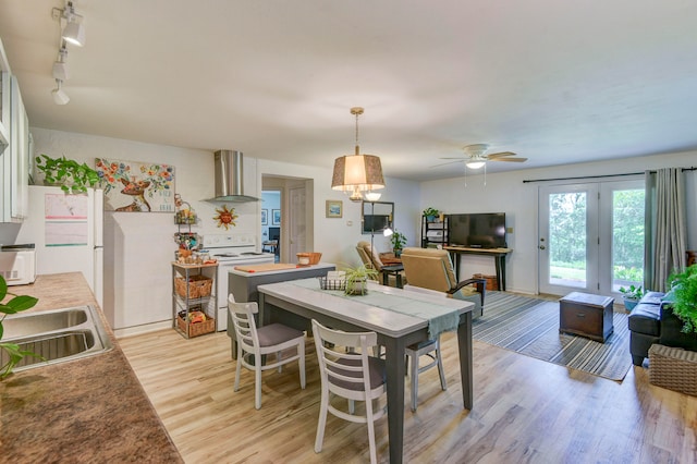
[[[232,317],[237,339],[237,367],[235,371],[235,391],[240,390],[242,366],[254,370],[254,406],[261,407],[261,371],[276,369],[279,373],[284,364],[297,359],[301,371],[301,388],[305,389],[305,334],[282,323],[271,323],[257,328],[254,315],[259,312],[256,302],[235,303],[234,296],[228,296],[228,310]],[[283,357],[283,352],[297,349],[297,353]],[[276,363],[264,365],[262,356],[276,354]]]

